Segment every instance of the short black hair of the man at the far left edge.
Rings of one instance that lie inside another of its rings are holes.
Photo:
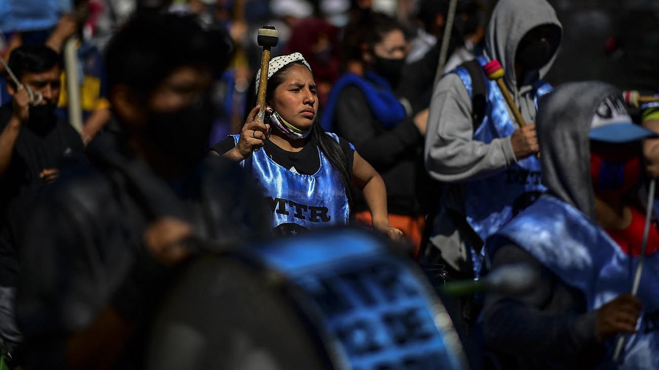
[[[11,52],[7,65],[20,81],[26,72],[42,73],[55,66],[61,67],[62,60],[57,51],[45,45],[22,45]],[[7,84],[17,87],[11,78],[7,78]]]

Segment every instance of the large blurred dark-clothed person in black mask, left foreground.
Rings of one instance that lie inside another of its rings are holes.
[[[220,32],[146,12],[107,47],[114,120],[32,216],[17,312],[26,369],[139,369],[144,334],[176,267],[207,240],[258,235],[258,189],[204,159]],[[177,45],[177,53],[171,53]]]

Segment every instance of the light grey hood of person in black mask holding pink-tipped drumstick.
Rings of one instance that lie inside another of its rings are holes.
[[[538,70],[538,78],[544,78],[556,59],[563,32],[556,11],[546,0],[500,0],[494,7],[485,36],[485,54],[488,59],[501,63],[505,82],[512,90],[517,90],[517,80],[524,78],[515,75],[519,41],[533,28],[545,24],[556,27],[559,37],[554,40],[556,45],[552,45],[552,57]]]

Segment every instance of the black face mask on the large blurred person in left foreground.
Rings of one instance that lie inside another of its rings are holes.
[[[210,97],[173,113],[152,112],[146,134],[171,161],[192,166],[208,151],[214,113]]]

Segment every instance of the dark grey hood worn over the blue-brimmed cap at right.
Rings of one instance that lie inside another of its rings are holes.
[[[607,119],[601,112],[605,105],[620,111],[608,116],[627,115],[621,92],[614,86],[594,81],[571,82],[541,97],[536,117],[542,153],[542,183],[550,194],[577,207],[592,219],[596,217],[590,176],[590,136],[601,128],[602,119]],[[608,118],[612,120],[608,123],[611,127],[621,130],[620,136],[625,136],[622,130],[636,132],[639,129],[631,122],[622,127],[619,126],[621,122],[614,122],[612,118],[615,117]],[[645,131],[645,137],[654,136]],[[639,137],[630,136],[628,142],[634,140]]]

